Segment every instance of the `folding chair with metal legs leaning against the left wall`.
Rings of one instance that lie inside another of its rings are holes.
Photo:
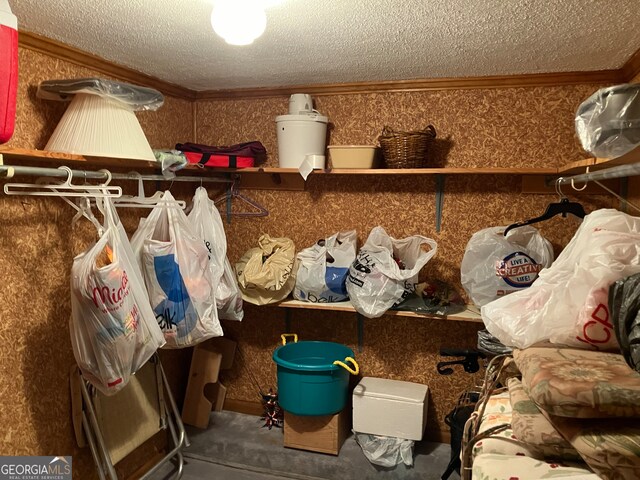
[[[80,447],[91,450],[100,480],[118,480],[115,465],[161,430],[168,428],[173,448],[140,480],[177,460],[174,479],[182,477],[182,449],[189,441],[157,354],[113,396],[93,387],[77,366],[71,370],[72,417]]]

